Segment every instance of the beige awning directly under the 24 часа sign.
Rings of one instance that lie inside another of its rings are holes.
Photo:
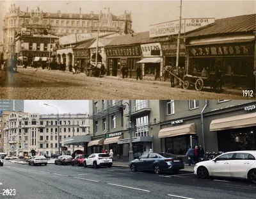
[[[158,138],[170,138],[170,137],[181,136],[186,134],[196,134],[195,123],[189,123],[185,125],[179,125],[176,127],[161,129],[158,133]]]

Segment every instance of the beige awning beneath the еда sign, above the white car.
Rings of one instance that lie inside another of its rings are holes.
[[[210,124],[210,131],[223,131],[227,129],[239,129],[252,126],[256,126],[256,113],[248,113],[212,120]]]

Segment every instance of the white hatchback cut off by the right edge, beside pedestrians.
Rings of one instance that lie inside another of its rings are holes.
[[[248,179],[256,184],[256,150],[227,152],[210,161],[196,163],[194,173],[205,179],[213,177],[231,177]]]

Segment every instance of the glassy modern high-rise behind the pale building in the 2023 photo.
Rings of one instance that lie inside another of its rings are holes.
[[[24,100],[0,100],[0,111],[24,112]]]

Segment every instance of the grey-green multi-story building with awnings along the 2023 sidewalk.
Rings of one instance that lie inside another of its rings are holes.
[[[115,158],[128,159],[129,106],[134,157],[150,148],[185,155],[189,145],[256,149],[256,100],[90,100],[88,151],[113,149]]]

